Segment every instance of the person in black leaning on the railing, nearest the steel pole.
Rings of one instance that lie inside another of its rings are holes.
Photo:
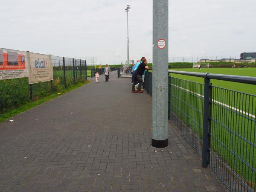
[[[133,79],[133,84],[132,84],[132,93],[136,93],[137,92],[135,90],[135,85],[137,83],[139,83],[138,93],[143,93],[143,91],[141,90],[141,85],[143,83],[142,76],[143,76],[143,73],[144,73],[145,69],[148,69],[148,65],[147,64],[148,64],[147,59],[143,58],[143,60],[140,63],[139,67],[134,71],[134,73],[133,73],[134,79]]]

